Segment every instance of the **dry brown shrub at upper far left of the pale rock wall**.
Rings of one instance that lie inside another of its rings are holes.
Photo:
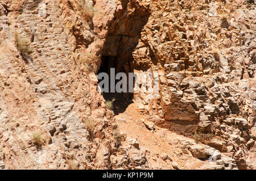
[[[31,49],[28,47],[30,45],[30,40],[26,37],[22,37],[17,31],[14,32],[15,44],[20,51],[20,53],[24,56],[26,54],[30,54]]]

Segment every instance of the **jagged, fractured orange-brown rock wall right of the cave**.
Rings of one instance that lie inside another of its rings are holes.
[[[150,9],[133,67],[158,71],[160,97],[135,95],[142,111],[160,127],[213,133],[222,151],[246,154],[255,140],[255,4],[151,1]]]

